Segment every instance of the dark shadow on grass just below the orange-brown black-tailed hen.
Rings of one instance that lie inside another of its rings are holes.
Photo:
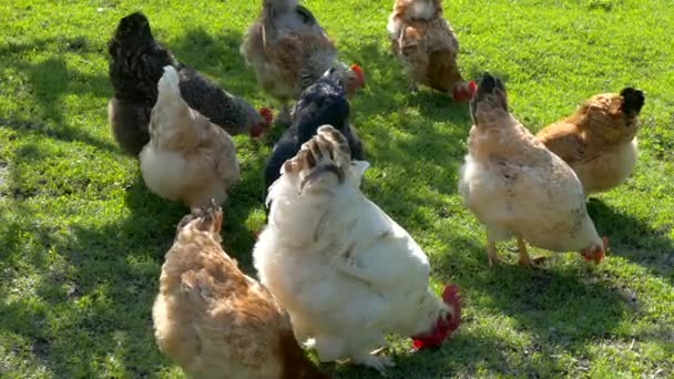
[[[674,242],[667,236],[668,228],[654,229],[596,197],[588,201],[588,212],[599,232],[609,236],[612,255],[625,257],[674,284]]]

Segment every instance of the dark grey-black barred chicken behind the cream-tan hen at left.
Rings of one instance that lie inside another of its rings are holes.
[[[108,106],[114,139],[124,153],[137,156],[150,141],[147,124],[156,102],[156,83],[165,65],[180,74],[182,96],[190,107],[231,135],[257,136],[272,121],[268,109],[255,111],[244,100],[224,91],[196,71],[177,62],[154,41],[147,18],[140,12],[124,17],[108,42],[110,81],[114,96]]]

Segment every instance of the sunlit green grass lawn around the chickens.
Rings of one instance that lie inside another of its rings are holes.
[[[259,0],[28,1],[0,4],[0,377],[181,377],[156,348],[151,307],[163,256],[187,211],[152,195],[106,122],[105,43],[135,10],[182,61],[255,105],[238,54]],[[394,338],[389,378],[671,377],[674,375],[674,9],[667,0],[445,1],[477,78],[502,75],[532,131],[585,98],[646,93],[632,178],[589,209],[612,255],[545,269],[489,268],[484,232],[457,194],[466,105],[407,91],[386,35],[391,0],[304,1],[368,88],[353,121],[368,161],[365,193],[429,255],[432,280],[457,283],[464,321],[437,351]],[[277,135],[278,133],[273,133]],[[225,207],[226,252],[252,275],[264,222],[267,143],[236,139],[243,180]],[[537,254],[540,252],[535,252]],[[323,365],[338,378],[375,371]]]

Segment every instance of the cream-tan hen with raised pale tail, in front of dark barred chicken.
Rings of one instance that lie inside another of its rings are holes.
[[[164,68],[150,119],[150,142],[139,155],[145,185],[161,197],[201,207],[227,198],[239,180],[236,146],[227,132],[191,109],[178,75]]]

